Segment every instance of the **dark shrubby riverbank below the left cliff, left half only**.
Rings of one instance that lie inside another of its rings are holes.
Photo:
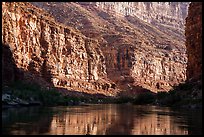
[[[65,90],[65,89],[64,89]],[[21,106],[70,106],[87,103],[110,103],[112,97],[101,94],[86,94],[75,91],[64,91],[59,88],[42,88],[38,84],[25,81],[13,82],[3,87],[2,108]],[[66,94],[65,94],[66,93]]]

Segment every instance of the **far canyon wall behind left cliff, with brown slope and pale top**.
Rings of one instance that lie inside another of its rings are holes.
[[[154,92],[169,91],[186,80],[183,24],[188,3],[32,4],[97,39],[105,57],[107,78],[120,90],[133,92],[141,86]]]

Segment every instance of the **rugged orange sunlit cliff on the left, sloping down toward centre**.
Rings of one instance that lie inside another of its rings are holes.
[[[29,3],[2,3],[2,43],[9,45],[16,67],[30,73],[30,81],[38,76],[55,87],[111,95],[98,42]]]

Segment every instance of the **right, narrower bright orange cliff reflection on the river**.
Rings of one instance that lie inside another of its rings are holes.
[[[142,108],[141,108],[142,109]],[[145,114],[146,113],[146,114]],[[176,115],[169,108],[149,107],[143,114],[144,117],[134,119],[131,134],[142,135],[177,135],[188,134],[187,128],[179,127],[175,123]],[[184,119],[182,119],[184,120]]]

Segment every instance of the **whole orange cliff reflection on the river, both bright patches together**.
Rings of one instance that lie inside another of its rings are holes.
[[[187,127],[175,123],[168,108],[131,105],[96,105],[69,108],[55,115],[51,134],[188,134]],[[179,119],[177,119],[179,120]],[[181,118],[181,120],[183,120]]]

